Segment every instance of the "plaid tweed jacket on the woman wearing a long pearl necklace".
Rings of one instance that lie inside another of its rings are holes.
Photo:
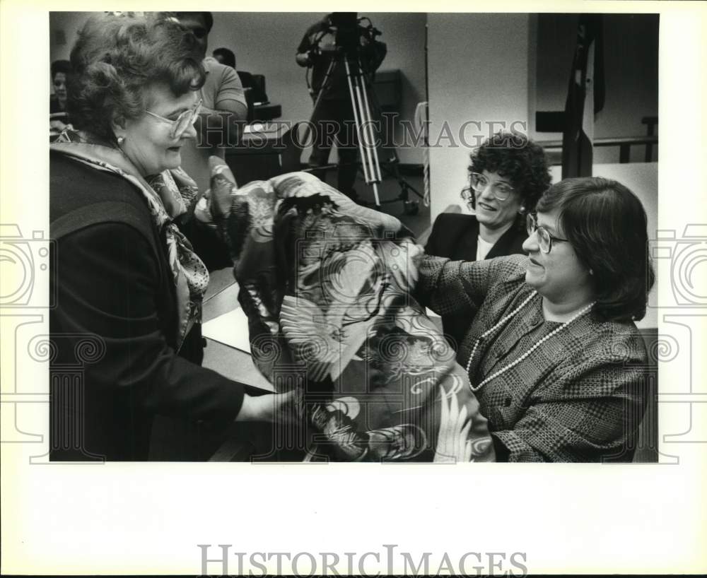
[[[532,293],[525,283],[526,260],[524,255],[421,259],[420,302],[438,314],[473,317],[457,348],[462,367],[477,338]],[[479,343],[469,370],[472,384],[519,358],[558,326],[544,320],[542,297],[536,295]],[[633,454],[647,379],[636,325],[597,322],[585,314],[476,395],[509,461],[625,461]]]

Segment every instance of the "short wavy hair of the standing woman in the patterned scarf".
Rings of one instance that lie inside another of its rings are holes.
[[[77,129],[115,143],[114,119],[144,114],[146,86],[168,85],[179,97],[199,90],[206,73],[195,58],[196,38],[180,23],[155,15],[92,16],[71,50],[67,90]]]

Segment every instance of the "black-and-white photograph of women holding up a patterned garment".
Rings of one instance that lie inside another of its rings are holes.
[[[303,16],[50,14],[52,459],[655,461],[659,16]]]

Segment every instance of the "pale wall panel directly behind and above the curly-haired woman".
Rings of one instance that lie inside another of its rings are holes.
[[[445,122],[455,146],[441,139],[430,150],[431,218],[460,203],[467,184],[469,153],[489,136],[489,122],[528,120],[527,14],[429,14],[431,144]],[[466,144],[457,138],[469,125]],[[500,126],[496,125],[496,131]],[[465,209],[464,209],[465,210]]]

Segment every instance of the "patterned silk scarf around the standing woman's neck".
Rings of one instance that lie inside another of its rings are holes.
[[[180,168],[145,179],[122,151],[91,143],[77,131],[64,131],[50,147],[97,170],[114,172],[141,191],[153,223],[159,231],[165,231],[168,262],[177,289],[179,350],[194,323],[201,323],[201,301],[209,285],[209,272],[174,223],[175,218],[194,210],[197,185]]]

